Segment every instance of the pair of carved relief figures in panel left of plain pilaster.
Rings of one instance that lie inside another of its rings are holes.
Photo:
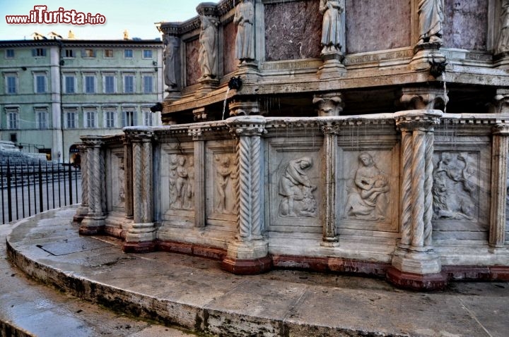
[[[170,209],[194,207],[194,159],[190,155],[170,154]]]

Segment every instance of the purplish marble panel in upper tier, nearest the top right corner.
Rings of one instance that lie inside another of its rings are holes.
[[[444,47],[486,50],[488,0],[445,0]]]

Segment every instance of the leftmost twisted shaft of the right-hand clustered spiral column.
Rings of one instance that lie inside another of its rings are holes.
[[[410,245],[412,235],[412,175],[411,163],[413,159],[411,132],[402,131],[402,244]]]

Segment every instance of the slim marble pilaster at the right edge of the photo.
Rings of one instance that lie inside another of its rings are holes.
[[[507,212],[507,179],[509,152],[509,124],[499,123],[493,128],[491,149],[491,216],[489,245],[505,246],[505,214]]]

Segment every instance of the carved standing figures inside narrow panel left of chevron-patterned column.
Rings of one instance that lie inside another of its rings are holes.
[[[214,210],[219,214],[235,214],[235,183],[238,178],[233,154],[214,155],[216,176],[214,183]]]

